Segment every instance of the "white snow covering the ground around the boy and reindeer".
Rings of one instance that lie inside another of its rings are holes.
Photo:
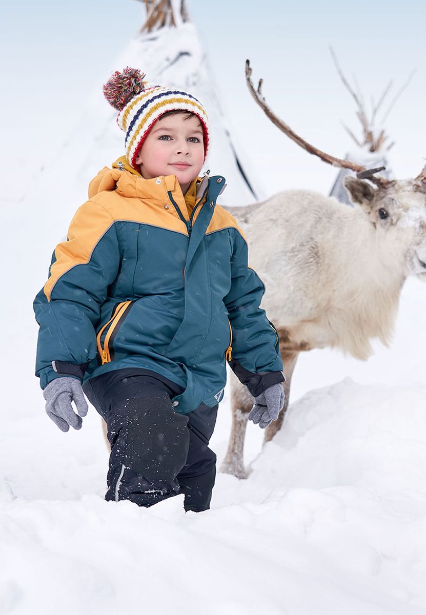
[[[403,289],[390,349],[377,345],[364,363],[325,350],[300,358],[283,430],[262,450],[262,432],[249,426],[249,478],[218,474],[206,512],[185,514],[181,496],[151,509],[105,502],[100,417],[90,408],[81,431],[66,434],[47,418],[33,376],[31,301],[84,198],[87,127],[98,138],[88,150],[95,172],[114,149],[102,132],[113,112],[103,109],[94,101],[46,179],[35,188],[31,176],[26,200],[2,211],[0,614],[424,614],[426,328],[417,280]],[[58,172],[64,160],[73,186]],[[211,443],[218,467],[229,431],[225,390]]]

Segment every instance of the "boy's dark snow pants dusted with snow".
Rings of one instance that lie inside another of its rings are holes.
[[[181,387],[158,375],[123,376],[125,371],[97,376],[83,387],[108,426],[105,499],[152,506],[183,493],[185,510],[207,510],[216,474],[208,444],[217,406],[203,404],[179,414],[171,398],[182,393]]]

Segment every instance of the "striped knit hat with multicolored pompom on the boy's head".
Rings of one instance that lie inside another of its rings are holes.
[[[167,111],[194,113],[203,127],[204,160],[209,147],[209,121],[203,105],[191,94],[172,87],[143,81],[137,68],[115,71],[103,86],[108,103],[119,111],[117,124],[126,133],[124,147],[129,164],[137,170],[136,159],[153,124]]]

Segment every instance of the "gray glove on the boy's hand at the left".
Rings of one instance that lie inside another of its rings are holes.
[[[81,382],[68,376],[55,378],[43,391],[46,399],[46,412],[61,431],[68,431],[70,427],[81,429],[81,416],[87,415],[87,402],[84,397]],[[74,402],[78,415],[73,410]]]

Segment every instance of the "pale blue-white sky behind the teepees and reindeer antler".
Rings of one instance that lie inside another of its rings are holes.
[[[396,141],[396,175],[420,171],[426,157],[423,0],[360,0],[353,6],[337,0],[191,0],[189,8],[231,127],[268,182],[326,190],[335,170],[263,117],[247,92],[244,62],[250,58],[254,78],[264,79],[268,103],[296,132],[344,156],[350,140],[340,120],[360,130],[329,44],[345,74],[356,74],[367,100],[377,100],[391,78],[396,93],[417,69],[386,127]],[[10,168],[12,161],[25,172],[60,147],[94,82],[122,68],[114,60],[139,30],[145,9],[135,0],[15,0],[2,14],[2,164]]]

